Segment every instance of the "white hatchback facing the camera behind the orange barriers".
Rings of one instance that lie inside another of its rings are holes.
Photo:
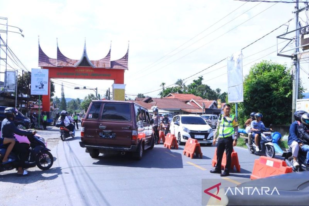
[[[199,115],[174,116],[170,133],[177,138],[178,144],[184,144],[189,138],[197,139],[199,143],[212,145],[213,129]]]

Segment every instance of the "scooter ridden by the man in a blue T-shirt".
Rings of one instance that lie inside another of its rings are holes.
[[[272,143],[272,134],[270,131],[270,127],[272,125],[269,126],[269,128],[265,128],[265,129],[260,129],[261,132],[261,138],[260,138],[260,145],[259,145],[259,149],[260,151],[257,152],[256,151],[256,144],[254,141],[254,137],[252,137],[252,148],[250,148],[249,143],[248,143],[248,139],[246,140],[246,145],[248,147],[248,151],[250,153],[255,153],[257,155],[263,155],[266,157],[270,157],[270,158],[274,158],[275,157],[275,148],[273,146]]]

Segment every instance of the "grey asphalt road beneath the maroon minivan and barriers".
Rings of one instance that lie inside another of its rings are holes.
[[[45,138],[57,140],[57,130],[44,132]],[[184,146],[169,150],[155,145],[137,161],[129,155],[101,154],[93,159],[79,141],[76,131],[75,138],[55,144],[55,162],[49,170],[30,168],[26,177],[16,177],[12,170],[2,172],[2,205],[201,205],[202,179],[222,179],[209,172],[214,146],[202,146],[203,158],[190,159],[182,154]],[[233,186],[250,181],[254,160],[259,158],[243,148],[235,151],[241,172],[232,170],[222,179]]]

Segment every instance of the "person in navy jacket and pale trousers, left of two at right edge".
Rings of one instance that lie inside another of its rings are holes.
[[[298,144],[301,143],[301,141],[298,139],[298,125],[301,124],[302,115],[305,113],[306,111],[303,111],[303,110],[295,111],[294,113],[295,121],[290,125],[288,145],[289,145],[290,150],[292,150],[292,156],[294,159],[294,163],[293,163],[294,167],[299,166],[299,163],[297,162],[298,151],[299,151]]]

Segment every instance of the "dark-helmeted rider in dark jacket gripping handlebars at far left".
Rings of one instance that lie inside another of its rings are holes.
[[[16,117],[17,112],[18,112],[17,109],[15,109],[14,107],[7,107],[4,110],[6,118],[2,121],[1,137],[15,139],[14,134],[18,134],[21,136],[29,136],[36,134],[36,131],[28,132],[26,130],[21,130],[16,127],[13,120]],[[28,172],[23,170],[23,165],[27,160],[28,150],[22,145],[20,145],[19,142],[15,139],[15,145],[12,151],[19,157],[17,174],[21,176],[27,175]]]

